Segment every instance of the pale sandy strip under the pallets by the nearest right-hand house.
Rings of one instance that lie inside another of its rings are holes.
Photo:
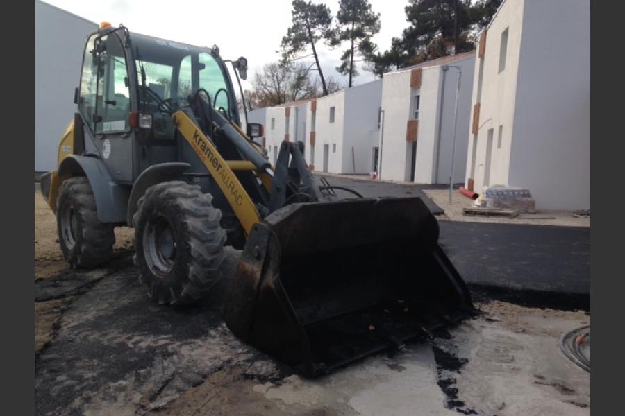
[[[572,211],[547,211],[537,210],[536,214],[519,214],[516,218],[500,218],[495,216],[467,216],[462,214],[463,208],[470,208],[473,200],[470,200],[456,189],[451,193],[449,203],[448,189],[424,189],[426,195],[436,205],[444,209],[445,215],[438,216],[442,220],[469,221],[476,223],[508,223],[508,224],[534,224],[534,225],[565,225],[568,227],[590,227],[590,218],[575,218]]]

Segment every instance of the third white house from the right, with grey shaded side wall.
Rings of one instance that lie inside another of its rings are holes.
[[[357,85],[307,104],[306,162],[315,171],[369,173],[379,139],[382,80]]]

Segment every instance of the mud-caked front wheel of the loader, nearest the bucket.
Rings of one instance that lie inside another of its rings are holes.
[[[222,278],[226,232],[212,201],[199,186],[182,181],[153,185],[139,199],[135,264],[158,303],[192,303]]]

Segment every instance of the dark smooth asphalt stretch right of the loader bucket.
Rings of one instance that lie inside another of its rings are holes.
[[[590,228],[439,221],[440,245],[477,295],[590,310]]]

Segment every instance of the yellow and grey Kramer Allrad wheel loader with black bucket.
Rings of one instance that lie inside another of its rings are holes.
[[[41,178],[69,264],[101,265],[115,227],[133,227],[153,300],[188,304],[220,283],[228,328],[310,376],[471,313],[424,202],[338,199],[300,142],[272,166],[263,125],[241,127],[227,63],[246,78],[247,60],[217,46],[122,25],[89,35],[58,168]],[[227,246],[242,250],[229,274]]]

